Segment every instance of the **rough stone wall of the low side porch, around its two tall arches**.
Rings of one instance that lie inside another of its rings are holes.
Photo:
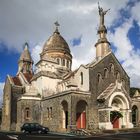
[[[67,104],[68,111],[68,127],[76,127],[76,105],[79,101],[89,102],[89,96],[81,95],[78,93],[70,92],[62,96],[62,94],[46,98],[42,101],[42,124],[48,126],[51,131],[66,131],[63,128],[63,103]],[[87,105],[88,106],[88,105]],[[49,115],[49,110],[52,108],[52,115]],[[86,109],[87,122],[88,122],[88,114],[89,109]],[[88,127],[88,123],[87,123]]]

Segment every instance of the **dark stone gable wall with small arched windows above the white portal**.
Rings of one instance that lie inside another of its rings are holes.
[[[111,65],[114,69],[111,72]],[[105,69],[107,69],[107,76],[105,77]],[[119,73],[119,82],[123,82],[125,90],[129,94],[129,77],[127,76],[120,63],[113,56],[109,54],[102,59],[97,65],[90,68],[90,91],[93,94],[93,98],[96,100],[97,96],[103,92],[111,83],[115,83],[117,80],[117,73]],[[98,74],[101,75],[100,81],[98,80]],[[123,81],[122,81],[123,80]]]

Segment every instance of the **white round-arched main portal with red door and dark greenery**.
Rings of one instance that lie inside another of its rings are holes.
[[[115,92],[109,99],[110,122],[113,128],[129,127],[129,101],[121,92]]]

